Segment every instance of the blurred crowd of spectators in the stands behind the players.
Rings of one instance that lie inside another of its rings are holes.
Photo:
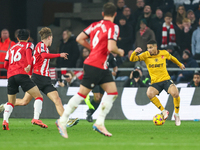
[[[117,41],[119,48],[124,49],[124,57],[112,55],[117,68],[133,68],[133,71],[116,71],[114,78],[124,81],[125,87],[146,87],[150,78],[143,62],[130,62],[129,57],[136,47],[147,50],[147,42],[156,40],[158,49],[167,50],[182,62],[186,68],[198,68],[200,61],[200,1],[199,0],[137,0],[137,9],[131,10],[125,0],[118,0],[115,23],[120,28]],[[17,35],[15,33],[15,37]],[[30,31],[31,32],[31,31]],[[64,30],[60,36],[57,52],[69,54],[68,60],[57,58],[55,78],[56,86],[79,86],[82,71],[67,71],[61,68],[82,68],[83,61],[90,51],[76,42],[76,36],[70,30]],[[34,39],[30,38],[34,43]],[[3,69],[7,50],[17,43],[11,41],[9,31],[3,29],[0,39],[0,78],[6,78]],[[36,44],[36,43],[34,43]],[[60,70],[59,70],[60,68]],[[167,61],[167,68],[178,68],[171,61]],[[59,70],[59,71],[57,71]],[[134,72],[139,76],[134,77]],[[195,71],[169,71],[175,83],[190,82],[189,87],[199,86],[199,73]],[[198,84],[196,83],[198,81]]]

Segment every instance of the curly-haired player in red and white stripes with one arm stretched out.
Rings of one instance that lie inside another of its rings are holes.
[[[38,86],[40,91],[46,94],[55,104],[58,114],[61,116],[64,112],[64,108],[61,102],[61,99],[58,95],[56,88],[51,83],[51,78],[49,77],[49,61],[51,58],[62,57],[67,59],[67,53],[60,54],[50,54],[48,47],[52,44],[52,32],[50,28],[44,27],[39,31],[41,36],[41,42],[39,42],[34,50],[33,56],[33,75],[31,79]],[[30,59],[31,60],[31,59]],[[29,93],[25,93],[23,99],[17,99],[15,106],[23,106],[27,105],[33,96]],[[41,120],[39,120],[39,116],[42,111],[42,103],[43,100],[35,101],[34,103],[34,118],[31,123],[35,125],[39,125],[42,128],[47,128],[48,126],[43,124]],[[1,105],[1,108],[4,105]],[[68,127],[71,127],[77,124],[79,121],[78,118],[75,120],[71,120],[68,122]]]

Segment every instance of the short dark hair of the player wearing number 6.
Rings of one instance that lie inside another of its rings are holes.
[[[103,5],[104,16],[113,17],[116,10],[117,10],[117,8],[112,2],[108,2]]]

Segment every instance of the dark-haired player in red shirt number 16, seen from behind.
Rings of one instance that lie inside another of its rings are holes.
[[[35,99],[34,105],[37,105],[38,101],[43,101],[38,87],[27,75],[27,72],[31,69],[31,57],[34,47],[32,43],[27,42],[29,40],[29,32],[25,29],[19,30],[17,39],[19,42],[7,51],[4,63],[4,68],[8,70],[8,103],[5,104],[3,114],[3,130],[9,130],[8,119],[15,105],[19,86]],[[39,108],[36,107],[35,109]],[[40,122],[43,128],[47,128],[41,120]]]

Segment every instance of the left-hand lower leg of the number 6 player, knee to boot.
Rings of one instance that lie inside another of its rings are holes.
[[[60,119],[56,121],[56,126],[58,127],[60,134],[64,138],[68,138],[66,125],[67,121],[69,120],[69,115],[74,112],[74,110],[86,98],[86,95],[88,95],[90,91],[91,89],[88,89],[83,85],[80,85],[79,92],[69,100],[63,115],[60,117]]]

